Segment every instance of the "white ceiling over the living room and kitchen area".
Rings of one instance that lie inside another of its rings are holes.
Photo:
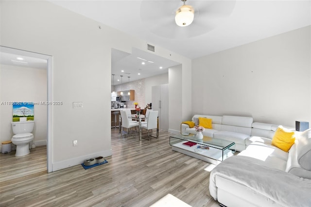
[[[311,0],[187,0],[195,10],[188,27],[174,22],[181,0],[49,1],[146,40],[155,50],[160,46],[190,59],[311,25]],[[147,60],[146,64],[141,65],[137,57]],[[112,50],[115,85],[117,76],[134,81],[167,72],[177,64],[137,49],[132,54]]]

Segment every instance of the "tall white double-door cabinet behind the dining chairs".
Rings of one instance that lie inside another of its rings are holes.
[[[152,86],[152,109],[158,111],[159,129],[169,130],[169,85]]]

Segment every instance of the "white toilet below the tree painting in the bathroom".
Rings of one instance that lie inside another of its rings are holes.
[[[12,129],[14,136],[11,141],[16,145],[15,156],[24,156],[30,153],[29,143],[34,140],[31,133],[34,130],[35,121],[13,121]]]

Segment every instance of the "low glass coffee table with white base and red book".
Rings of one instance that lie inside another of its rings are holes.
[[[172,150],[217,165],[235,153],[235,142],[204,136],[176,134],[170,136]]]

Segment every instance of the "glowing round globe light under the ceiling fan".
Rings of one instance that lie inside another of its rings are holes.
[[[190,25],[194,18],[194,10],[190,5],[182,5],[177,11],[175,22],[180,27]]]

